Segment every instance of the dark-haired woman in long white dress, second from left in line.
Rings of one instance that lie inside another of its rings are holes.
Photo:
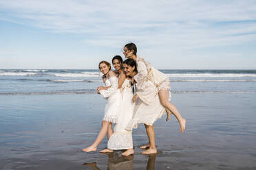
[[[134,114],[135,104],[132,102],[134,97],[131,78],[126,76],[122,71],[122,58],[121,56],[115,56],[112,59],[114,68],[116,69],[118,79],[118,86],[120,86],[120,93],[122,95],[122,104],[120,107],[120,114],[118,121],[114,126],[114,134],[112,134],[107,143],[107,149],[103,149],[100,152],[113,152],[113,150],[127,149],[122,153],[122,156],[129,156],[134,154],[132,134],[131,131],[125,130],[125,127],[131,120]]]

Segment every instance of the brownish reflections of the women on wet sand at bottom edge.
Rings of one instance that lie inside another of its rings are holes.
[[[107,169],[109,170],[132,170],[133,169],[133,159],[134,156],[119,156],[116,152],[113,153],[108,153],[107,156],[108,161],[107,161]],[[147,169],[148,170],[154,170],[155,169],[155,160],[156,160],[156,154],[150,154],[149,155],[149,160],[147,161]],[[92,167],[94,170],[100,170],[96,162],[92,163],[83,163],[83,165],[86,165],[88,167]]]

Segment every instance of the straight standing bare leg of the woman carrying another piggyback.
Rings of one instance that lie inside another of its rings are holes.
[[[153,125],[145,125],[147,136],[149,137],[149,149],[142,151],[141,154],[156,154],[155,131]]]

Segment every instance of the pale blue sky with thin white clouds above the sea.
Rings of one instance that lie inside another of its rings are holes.
[[[97,69],[129,42],[157,69],[256,69],[256,1],[0,0],[0,69]]]

